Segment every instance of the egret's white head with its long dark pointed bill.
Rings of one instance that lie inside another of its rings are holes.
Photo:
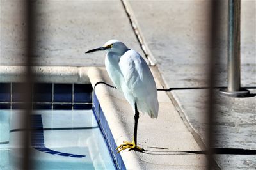
[[[109,40],[108,42],[106,42],[103,45],[103,47],[88,50],[85,53],[95,52],[98,50],[107,50],[108,52],[115,52],[115,53],[122,54],[122,53],[126,52],[128,50],[128,48],[126,47],[126,45],[124,43],[122,43],[118,40]]]

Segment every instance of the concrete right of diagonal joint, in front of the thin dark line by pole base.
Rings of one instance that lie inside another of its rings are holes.
[[[233,98],[221,96],[218,89],[214,91],[216,120],[214,121],[215,148],[233,148],[256,150],[256,90],[248,89],[251,97]],[[179,111],[195,133],[207,144],[207,102],[206,89],[175,90],[172,93]],[[223,169],[253,169],[256,155],[225,154],[216,155],[216,160]],[[234,164],[236,162],[236,164]]]

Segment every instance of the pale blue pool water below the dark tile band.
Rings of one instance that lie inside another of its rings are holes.
[[[0,110],[0,169],[20,169],[19,110]],[[38,110],[31,115],[33,169],[115,169],[92,110]]]

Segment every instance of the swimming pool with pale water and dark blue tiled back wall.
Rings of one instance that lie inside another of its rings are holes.
[[[0,169],[20,169],[23,86],[0,83]],[[29,132],[33,169],[116,169],[92,98],[91,84],[33,84]]]

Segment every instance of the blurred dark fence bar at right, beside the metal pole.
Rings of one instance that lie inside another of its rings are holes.
[[[210,49],[208,51],[207,56],[207,63],[208,67],[205,72],[207,73],[207,81],[209,84],[209,88],[207,89],[206,93],[208,96],[206,105],[205,114],[207,115],[207,169],[218,169],[218,165],[216,164],[214,160],[214,146],[215,146],[215,134],[214,131],[216,130],[214,126],[214,122],[216,120],[216,105],[214,103],[216,102],[216,94],[214,93],[214,87],[215,84],[215,75],[216,75],[216,69],[215,69],[215,63],[216,59],[218,59],[217,56],[220,55],[220,50],[216,48],[216,44],[218,43],[218,38],[220,38],[220,23],[218,20],[221,13],[220,13],[220,6],[221,6],[221,0],[212,0],[209,5],[211,5],[209,12],[209,44]]]

